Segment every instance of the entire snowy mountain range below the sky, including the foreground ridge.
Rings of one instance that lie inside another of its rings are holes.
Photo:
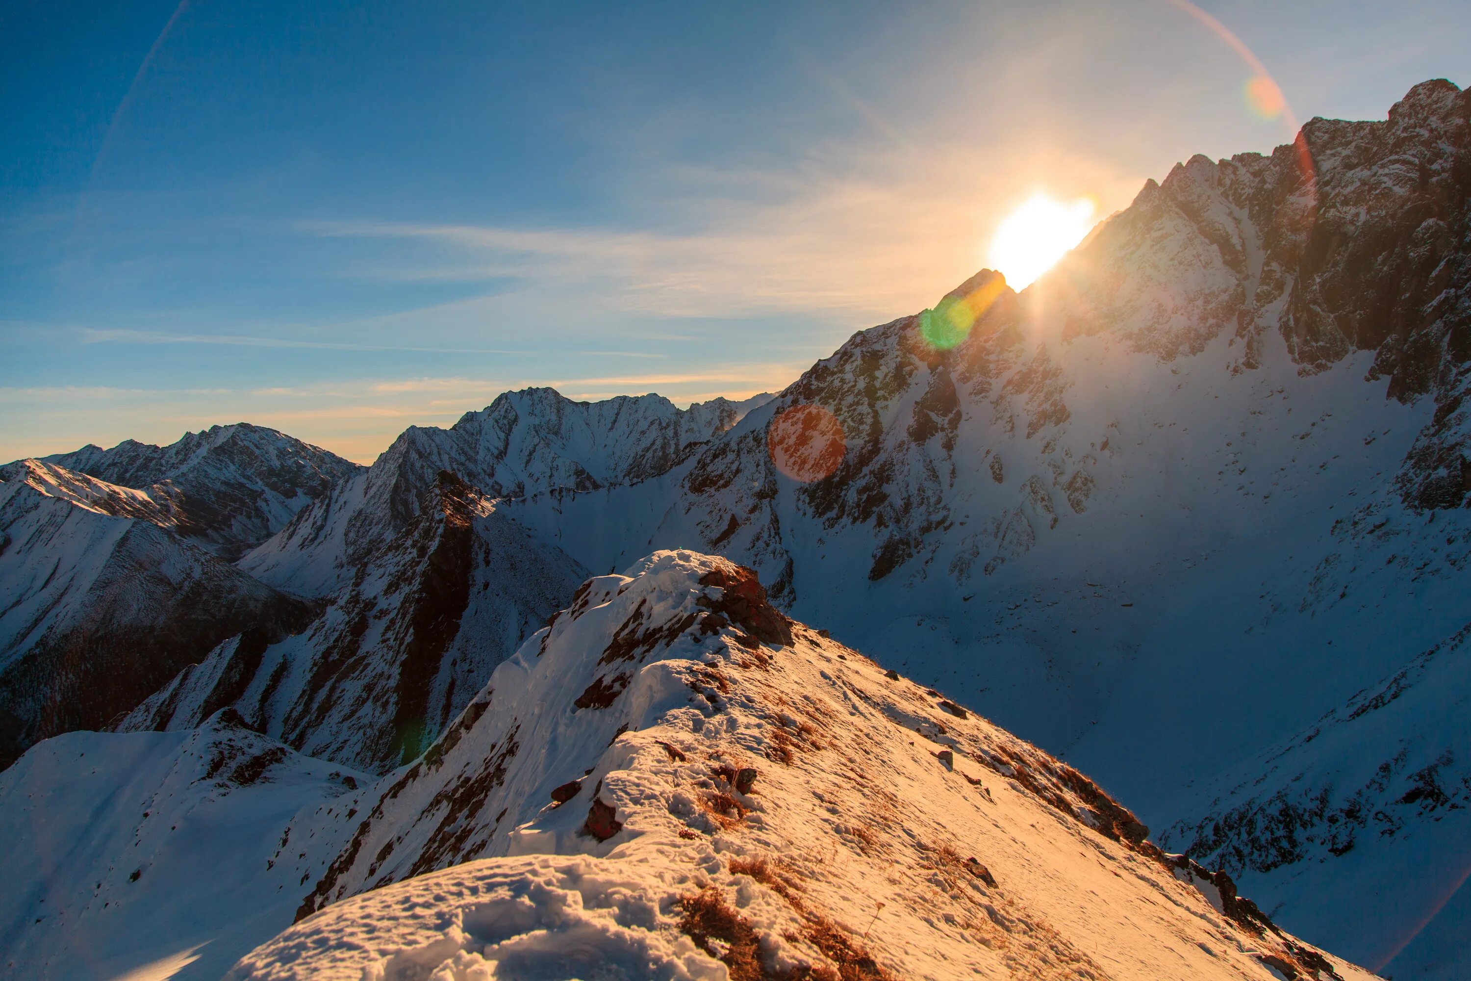
[[[1434,81],[1383,122],[1193,157],[1025,291],[983,271],[775,396],[507,393],[371,468],[243,424],[7,465],[0,821],[51,857],[0,910],[0,963],[62,977],[87,940],[97,977],[135,966],[131,918],[203,888],[212,840],[137,824],[156,806],[238,825],[228,877],[260,897],[215,934],[177,900],[150,950],[215,937],[197,977],[297,907],[324,912],[235,977],[534,959],[534,928],[671,978],[949,971],[921,950],[1352,975],[1308,944],[1461,977],[1468,378],[1471,96]],[[765,797],[734,790],[758,757]],[[71,816],[43,834],[46,794]],[[62,856],[82,813],[97,844]],[[996,882],[927,822],[986,843]],[[653,912],[584,890],[535,919],[580,877]],[[1105,899],[1064,916],[1058,888]],[[456,934],[424,890],[544,902],[455,899]],[[886,903],[872,935],[855,896]],[[68,912],[29,922],[43,899]],[[353,946],[365,918],[384,940]]]

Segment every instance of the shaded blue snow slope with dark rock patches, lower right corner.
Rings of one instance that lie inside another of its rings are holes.
[[[1471,918],[1446,905],[1471,840],[1471,627],[1197,793],[1200,816],[1164,843],[1292,907],[1311,935],[1372,918],[1342,953],[1396,978],[1462,974]],[[1353,891],[1331,896],[1340,882]]]

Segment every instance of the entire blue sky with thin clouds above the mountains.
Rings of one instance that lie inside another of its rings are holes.
[[[1471,81],[1467,3],[1200,9],[1300,119]],[[9,0],[0,459],[780,388],[1036,191],[1287,141],[1253,71],[1184,0]]]

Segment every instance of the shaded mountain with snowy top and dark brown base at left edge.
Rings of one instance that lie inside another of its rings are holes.
[[[43,493],[25,472],[0,482],[0,766],[37,740],[104,727],[232,634],[277,640],[312,619],[150,516]]]

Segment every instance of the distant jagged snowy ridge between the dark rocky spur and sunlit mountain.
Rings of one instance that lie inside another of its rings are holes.
[[[369,469],[303,510],[240,565],[274,585],[325,596],[403,531],[441,471],[490,497],[625,485],[669,471],[769,400],[713,399],[677,409],[652,394],[572,402],[552,388],[510,391],[449,429],[405,429]]]

